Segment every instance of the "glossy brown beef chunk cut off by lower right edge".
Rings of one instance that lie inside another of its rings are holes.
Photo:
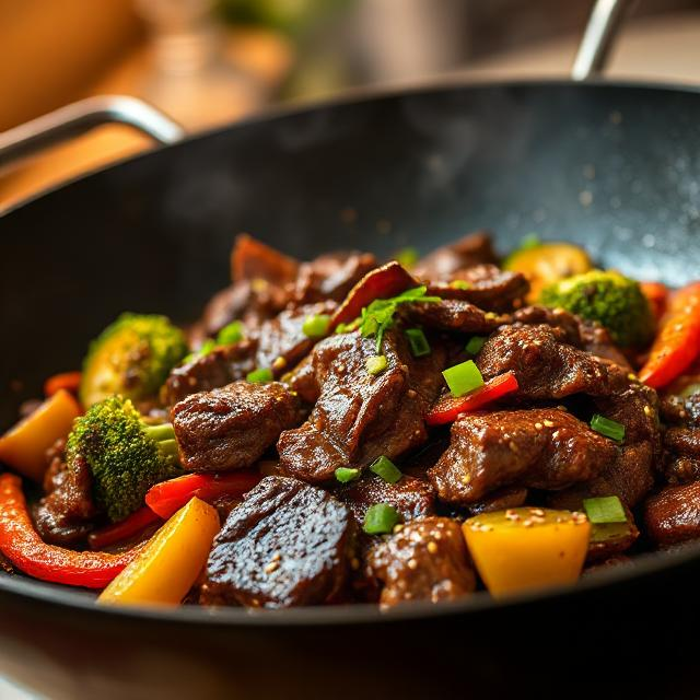
[[[700,481],[669,486],[644,504],[649,537],[661,546],[700,537]]]

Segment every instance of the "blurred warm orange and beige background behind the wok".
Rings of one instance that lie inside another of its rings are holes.
[[[89,95],[190,132],[434,77],[565,75],[593,0],[0,0],[0,131]],[[641,0],[608,74],[700,82],[700,0]],[[0,171],[0,208],[151,144],[107,126]]]

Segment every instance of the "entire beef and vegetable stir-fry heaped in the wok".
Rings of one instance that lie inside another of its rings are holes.
[[[301,262],[247,235],[0,438],[0,564],[98,604],[438,603],[700,538],[700,282],[534,237]]]

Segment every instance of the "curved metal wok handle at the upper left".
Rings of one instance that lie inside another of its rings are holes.
[[[127,124],[161,144],[185,136],[176,121],[136,97],[88,97],[1,132],[0,167],[104,124]]]

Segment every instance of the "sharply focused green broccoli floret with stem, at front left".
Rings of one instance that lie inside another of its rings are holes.
[[[130,399],[110,396],[78,418],[68,438],[69,468],[86,460],[93,497],[113,522],[143,505],[159,481],[182,474],[173,427],[147,425]]]

